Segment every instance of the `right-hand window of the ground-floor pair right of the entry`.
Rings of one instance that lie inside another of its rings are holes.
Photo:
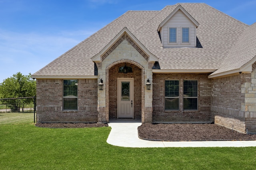
[[[183,109],[197,110],[197,80],[184,80],[183,82]]]

